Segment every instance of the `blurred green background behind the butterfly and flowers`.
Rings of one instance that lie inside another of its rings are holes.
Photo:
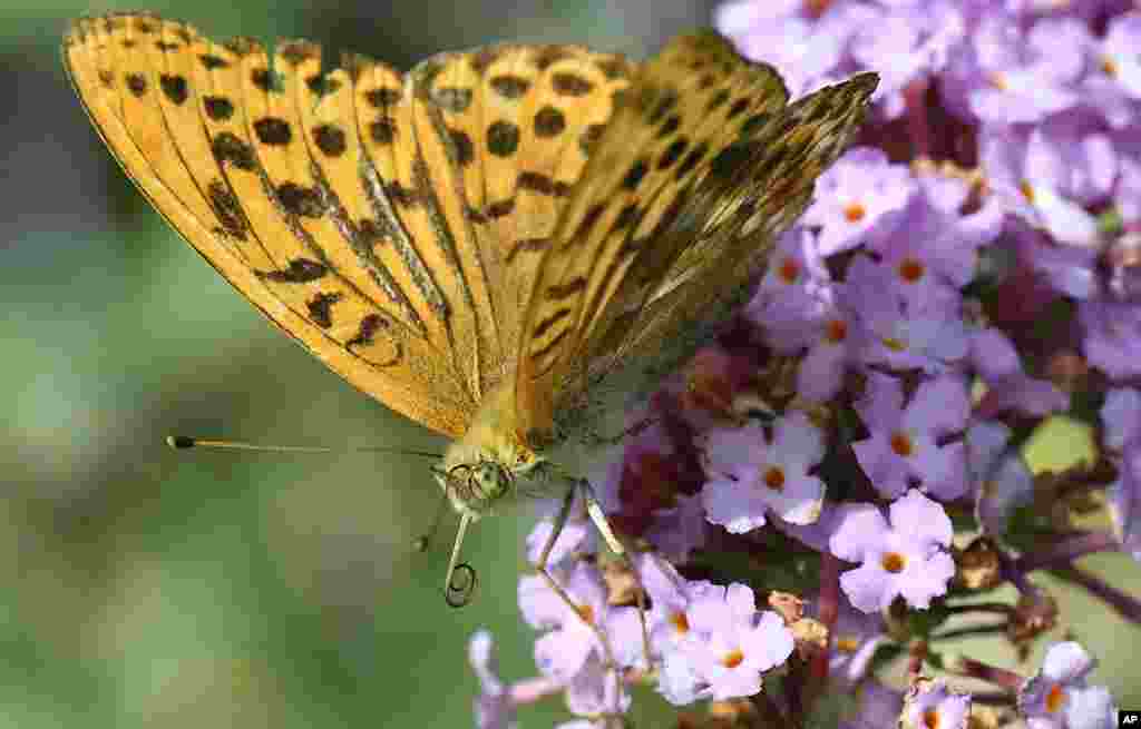
[[[407,68],[499,39],[644,57],[712,2],[199,0],[149,9],[215,38],[306,36]],[[484,522],[475,603],[410,543],[437,489],[411,457],[175,453],[168,433],[439,450],[274,331],[165,228],[72,95],[68,18],[0,7],[0,727],[467,727],[467,640],[534,672],[516,582],[529,513]],[[445,527],[444,532],[450,532]],[[447,541],[446,539],[443,541]],[[1098,562],[1141,593],[1118,556]],[[1070,626],[1125,706],[1139,631],[1074,596]],[[1132,646],[1132,649],[1123,646]],[[524,724],[566,716],[558,702]]]

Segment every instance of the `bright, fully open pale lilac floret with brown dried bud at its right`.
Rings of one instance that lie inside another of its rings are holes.
[[[950,519],[941,505],[915,489],[892,502],[889,511],[890,526],[872,505],[841,507],[828,548],[860,566],[841,574],[840,587],[865,613],[887,608],[897,596],[926,609],[931,598],[947,592],[955,575],[955,562],[947,551]]]

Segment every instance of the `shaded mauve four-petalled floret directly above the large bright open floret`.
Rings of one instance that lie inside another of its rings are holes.
[[[852,450],[872,485],[888,498],[919,484],[939,499],[957,499],[966,491],[966,451],[962,441],[939,441],[966,427],[970,402],[957,376],[920,385],[904,407],[903,385],[887,375],[872,374],[857,410],[871,436]]]

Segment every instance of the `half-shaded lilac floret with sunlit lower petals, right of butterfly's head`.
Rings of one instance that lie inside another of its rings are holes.
[[[743,534],[763,526],[772,510],[794,524],[819,517],[824,482],[808,474],[824,457],[824,437],[802,412],[777,420],[772,443],[755,425],[707,434],[710,481],[703,500],[710,522]]]

